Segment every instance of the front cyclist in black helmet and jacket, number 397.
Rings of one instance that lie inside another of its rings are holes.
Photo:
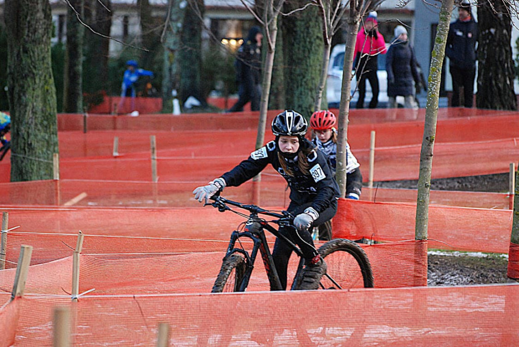
[[[207,201],[224,187],[237,187],[256,176],[268,164],[272,165],[290,187],[287,211],[295,216],[296,230],[280,227],[279,233],[296,243],[303,252],[305,268],[299,289],[317,289],[321,276],[326,272],[326,263],[313,245],[310,230],[335,215],[339,187],[328,157],[304,137],[307,128],[308,123],[301,114],[285,110],[272,120],[275,141],[253,151],[233,170],[215,178],[207,186],[196,188],[193,193],[198,201]],[[291,247],[276,239],[272,258],[283,290],[286,289],[286,270],[291,253]]]

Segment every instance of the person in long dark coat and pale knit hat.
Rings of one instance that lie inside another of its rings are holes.
[[[414,82],[419,76],[415,51],[407,40],[407,30],[402,25],[394,29],[394,39],[386,55],[388,73],[388,108],[397,107],[397,96],[404,96],[404,107],[418,108],[414,98]]]

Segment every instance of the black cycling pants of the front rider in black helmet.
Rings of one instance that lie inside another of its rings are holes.
[[[297,205],[294,202],[291,202],[287,211],[292,213],[292,215],[297,216],[300,213],[303,213],[307,207],[310,207],[312,203],[306,203],[303,205]],[[292,228],[279,228],[279,233],[283,234],[290,241],[295,243],[301,248],[303,252],[303,256],[306,260],[311,260],[313,257],[318,255],[315,246],[313,245],[312,235],[310,230],[313,227],[317,227],[323,224],[325,221],[330,220],[335,216],[337,212],[337,201],[333,200],[332,205],[328,207],[326,210],[322,211],[319,214],[319,218],[317,218],[309,230],[303,231],[295,231]],[[286,270],[289,266],[290,256],[292,255],[292,247],[286,244],[281,239],[276,239],[276,243],[274,244],[274,250],[272,251],[272,259],[274,259],[274,265],[276,266],[276,270],[278,272],[279,280],[281,281],[281,288],[283,290],[286,289]]]

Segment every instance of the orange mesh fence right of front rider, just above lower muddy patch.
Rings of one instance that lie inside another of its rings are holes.
[[[416,204],[339,200],[335,238],[413,240]],[[508,253],[512,211],[429,206],[429,247]]]

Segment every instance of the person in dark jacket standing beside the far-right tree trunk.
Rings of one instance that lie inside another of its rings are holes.
[[[458,16],[455,22],[450,23],[445,46],[445,54],[450,61],[450,76],[453,80],[453,97],[450,105],[459,106],[460,88],[463,87],[464,105],[471,108],[474,99],[478,31],[468,0],[463,0],[458,6]]]

